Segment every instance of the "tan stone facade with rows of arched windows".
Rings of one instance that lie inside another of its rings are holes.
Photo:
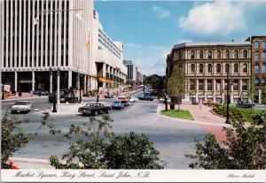
[[[176,44],[167,57],[167,77],[174,65],[187,77],[186,101],[224,103],[230,84],[230,103],[247,100],[251,76],[249,42],[199,42]],[[230,82],[227,80],[229,73]]]

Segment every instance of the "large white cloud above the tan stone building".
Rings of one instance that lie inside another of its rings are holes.
[[[241,2],[219,0],[196,5],[187,17],[178,19],[179,27],[196,34],[230,34],[244,28],[244,10]]]

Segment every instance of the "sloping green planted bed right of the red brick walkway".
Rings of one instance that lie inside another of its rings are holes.
[[[215,111],[216,114],[226,117],[226,105],[224,106],[223,104],[219,104],[214,108],[213,111]],[[253,113],[251,113],[250,108],[249,109],[237,108],[236,105],[229,106],[229,116],[230,116],[229,118],[236,121],[244,119],[246,122],[251,123],[253,121],[252,117],[262,112],[263,110],[254,109]]]

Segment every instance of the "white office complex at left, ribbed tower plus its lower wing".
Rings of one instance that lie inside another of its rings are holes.
[[[81,88],[126,80],[123,46],[103,32],[88,0],[1,1],[2,80],[12,91]],[[111,80],[111,81],[106,81]]]

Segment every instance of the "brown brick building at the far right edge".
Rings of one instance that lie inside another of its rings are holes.
[[[251,63],[254,85],[258,91],[256,102],[262,102],[262,88],[266,85],[266,35],[250,36],[246,42],[251,42]]]

